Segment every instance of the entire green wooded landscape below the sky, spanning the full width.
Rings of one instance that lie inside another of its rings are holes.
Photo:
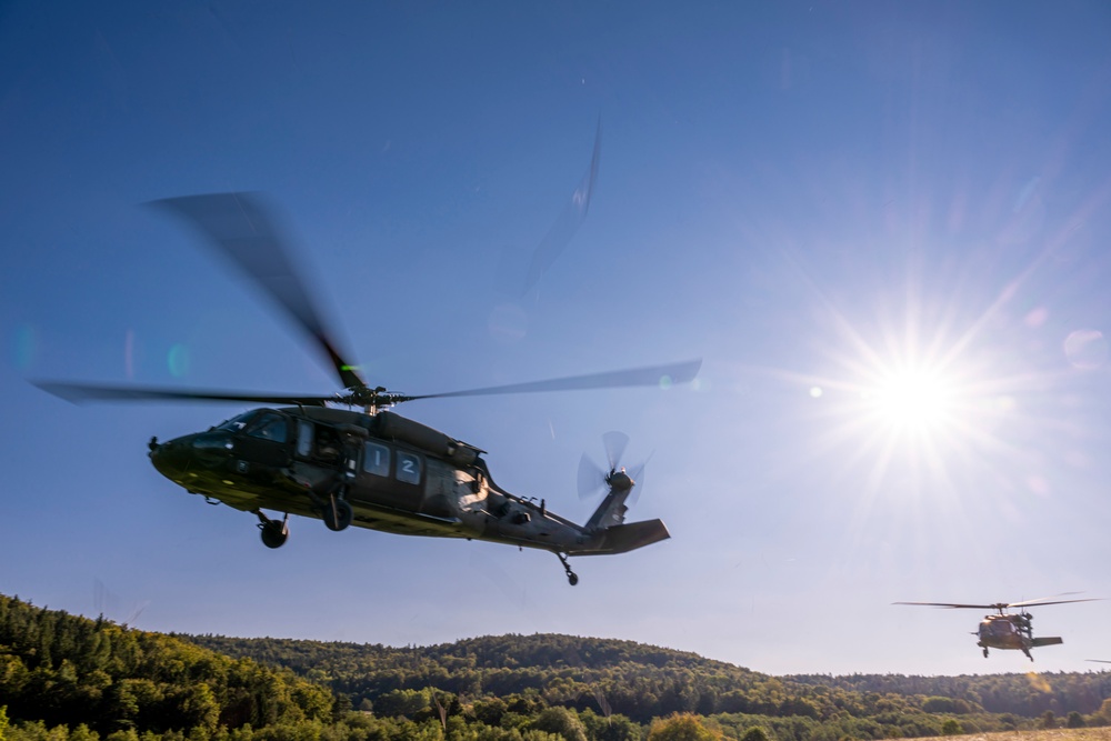
[[[167,635],[0,595],[0,741],[843,741],[1111,724],[1111,673],[1038,677],[774,678],[557,634],[408,648]]]

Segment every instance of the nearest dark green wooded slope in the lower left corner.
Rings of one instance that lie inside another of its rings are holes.
[[[327,689],[194,643],[0,594],[0,707],[92,731],[189,732],[331,719]]]

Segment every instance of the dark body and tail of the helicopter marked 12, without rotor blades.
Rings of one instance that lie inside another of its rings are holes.
[[[354,524],[487,540],[552,551],[561,560],[669,537],[660,520],[623,523],[628,490],[611,491],[593,524],[575,524],[544,501],[498,487],[482,452],[391,412],[308,405],[254,409],[206,432],[150,443],[159,472],[190,493],[256,513],[271,548],[284,542],[287,529],[262,510],[322,519],[332,530]]]

